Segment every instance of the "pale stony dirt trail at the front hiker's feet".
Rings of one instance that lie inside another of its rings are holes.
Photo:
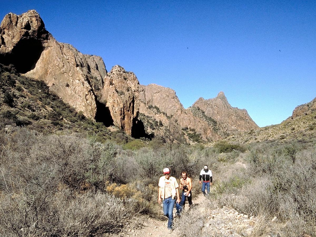
[[[207,206],[209,203],[207,198],[202,193],[198,194],[196,198],[193,197],[194,208],[199,210],[201,215],[205,218],[203,222],[198,224],[201,236],[227,236],[227,237],[246,237],[248,236],[258,222],[257,217],[244,215],[238,213],[234,209],[228,207],[210,209]],[[189,211],[188,204],[185,212]],[[175,216],[176,209],[173,210],[173,218],[179,218]],[[128,223],[128,227],[122,230],[119,234],[111,234],[111,236],[144,236],[144,237],[177,237],[183,236],[183,233],[179,230],[174,230],[172,233],[168,233],[167,229],[167,217],[163,216],[162,207],[161,215],[157,218],[151,217],[137,217],[133,224]],[[274,221],[274,220],[272,220]],[[139,228],[135,228],[138,226]],[[185,227],[186,228],[186,227]],[[182,230],[183,231],[183,230]],[[190,235],[189,235],[190,236]],[[273,236],[273,235],[270,235]]]

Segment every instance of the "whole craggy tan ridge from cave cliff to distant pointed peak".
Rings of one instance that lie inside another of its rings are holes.
[[[86,117],[115,125],[133,137],[155,132],[177,134],[187,142],[216,141],[230,132],[258,128],[247,111],[231,107],[222,92],[214,99],[197,100],[193,105],[197,113],[185,109],[170,88],[140,85],[134,73],[119,65],[108,72],[102,58],[56,41],[35,10],[4,17],[0,63],[13,64],[25,76],[43,80]]]

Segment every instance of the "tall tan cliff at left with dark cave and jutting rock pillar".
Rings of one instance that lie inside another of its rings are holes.
[[[138,115],[138,80],[119,66],[107,73],[102,58],[57,42],[35,10],[7,14],[0,26],[0,63],[43,80],[88,118],[132,133]]]

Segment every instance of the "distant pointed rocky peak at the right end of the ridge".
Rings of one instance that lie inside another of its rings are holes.
[[[198,107],[206,116],[216,120],[223,131],[248,131],[258,128],[247,110],[232,107],[222,91],[213,99],[204,100],[200,97],[192,106]]]

